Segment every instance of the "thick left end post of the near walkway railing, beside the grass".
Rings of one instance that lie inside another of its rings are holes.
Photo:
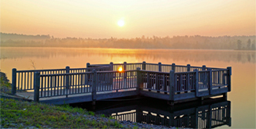
[[[39,102],[40,73],[35,72],[34,76],[34,102]]]

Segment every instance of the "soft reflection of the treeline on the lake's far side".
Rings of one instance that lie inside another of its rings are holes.
[[[255,63],[253,51],[224,51],[224,50],[167,50],[167,49],[109,49],[109,48],[1,48],[1,58],[40,57],[50,58],[56,56],[100,56],[143,59],[172,59],[173,61],[223,61]]]

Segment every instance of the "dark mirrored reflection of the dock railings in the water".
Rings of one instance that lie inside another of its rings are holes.
[[[136,103],[126,106],[98,109],[96,113],[113,116],[117,120],[127,120],[144,124],[172,127],[213,128],[231,126],[229,101],[206,100],[205,104],[181,104],[174,107],[145,106]]]

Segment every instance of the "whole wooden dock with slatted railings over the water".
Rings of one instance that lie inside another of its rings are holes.
[[[121,70],[121,71],[118,71]],[[164,99],[171,105],[231,91],[232,68],[175,63],[87,63],[87,68],[13,69],[13,95],[53,104],[93,102],[133,95]]]

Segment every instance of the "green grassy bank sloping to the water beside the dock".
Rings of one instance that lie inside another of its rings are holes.
[[[1,126],[43,128],[120,128],[122,125],[104,115],[71,106],[52,106],[37,102],[1,99]]]

